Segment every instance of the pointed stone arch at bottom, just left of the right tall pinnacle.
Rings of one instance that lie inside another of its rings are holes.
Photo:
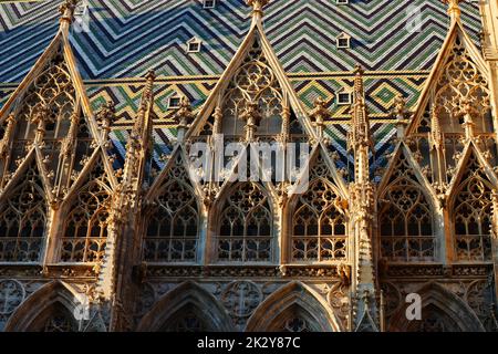
[[[338,332],[340,326],[326,304],[312,289],[293,281],[272,293],[249,319],[247,332]]]

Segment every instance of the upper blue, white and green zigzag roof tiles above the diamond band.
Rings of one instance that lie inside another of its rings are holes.
[[[90,32],[73,33],[84,79],[157,74],[220,74],[249,25],[243,0],[219,0],[203,9],[200,0],[89,0]],[[59,1],[0,4],[0,82],[19,82],[56,31]],[[419,9],[417,17],[407,7]],[[480,19],[475,3],[464,3],[464,21],[477,41]],[[367,70],[427,70],[447,25],[439,0],[273,0],[266,30],[287,72],[349,71],[356,62]],[[35,29],[35,30],[34,30]],[[338,50],[346,32],[352,48]],[[186,53],[193,37],[200,53]],[[22,59],[19,61],[19,59]]]

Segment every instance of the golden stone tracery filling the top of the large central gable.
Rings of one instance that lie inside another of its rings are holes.
[[[262,115],[257,135],[277,135],[282,125],[282,90],[261,48],[255,39],[247,58],[234,75],[224,96],[222,133],[242,135],[246,126],[241,118],[248,105],[256,103]]]

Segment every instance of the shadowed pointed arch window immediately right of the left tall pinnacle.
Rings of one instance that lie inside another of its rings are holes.
[[[148,217],[143,258],[147,262],[195,262],[199,235],[199,208],[188,176],[175,168]]]

